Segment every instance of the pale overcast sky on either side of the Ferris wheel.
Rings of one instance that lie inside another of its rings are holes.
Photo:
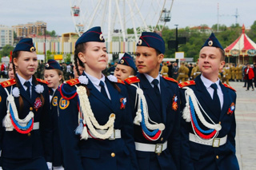
[[[235,23],[236,9],[238,24],[245,24],[247,28],[256,21],[255,0],[174,0],[171,20],[166,26],[170,29],[176,24],[179,28],[202,24],[211,27],[218,22],[218,4],[221,25]],[[87,7],[81,6],[84,10]],[[47,30],[55,30],[59,35],[74,32],[70,0],[0,0],[0,25],[15,26],[36,21],[46,22]]]

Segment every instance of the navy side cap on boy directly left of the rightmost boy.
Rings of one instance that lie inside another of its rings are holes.
[[[160,53],[165,53],[166,46],[162,37],[156,33],[143,32],[139,38],[137,46],[147,46],[154,49],[158,49]]]

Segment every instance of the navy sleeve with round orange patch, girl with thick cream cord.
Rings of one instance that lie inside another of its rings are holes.
[[[63,85],[64,86],[64,85]],[[65,169],[83,170],[79,149],[80,136],[74,131],[78,127],[77,97],[69,101],[58,93],[59,135],[62,145]]]

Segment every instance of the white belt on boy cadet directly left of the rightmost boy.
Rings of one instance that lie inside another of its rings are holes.
[[[167,141],[163,144],[143,144],[135,142],[136,151],[161,153],[166,150]]]

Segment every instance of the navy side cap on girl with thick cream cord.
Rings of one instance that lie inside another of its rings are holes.
[[[102,35],[102,30],[100,26],[95,26],[90,30],[87,30],[84,34],[78,38],[78,41],[75,42],[75,46],[85,42],[105,42],[105,39]]]

